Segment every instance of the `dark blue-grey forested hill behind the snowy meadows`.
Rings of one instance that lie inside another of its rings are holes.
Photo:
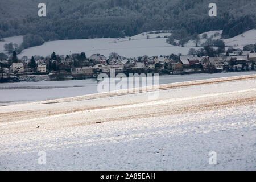
[[[47,17],[38,17],[46,3]],[[188,34],[224,30],[229,38],[255,27],[255,0],[214,0],[217,17],[208,16],[212,0],[0,0],[0,37],[36,35],[57,39],[123,37],[151,30]],[[32,40],[31,40],[32,41]],[[33,41],[32,41],[33,42]],[[31,45],[32,44],[32,45]]]

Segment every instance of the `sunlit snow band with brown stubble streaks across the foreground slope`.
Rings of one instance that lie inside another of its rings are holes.
[[[251,86],[243,86],[246,81],[250,81]],[[232,90],[230,84],[241,84],[241,88],[247,89]],[[256,102],[255,86],[256,75],[248,75],[160,85],[157,100],[147,100],[147,93],[123,94],[122,90],[6,106],[0,108],[0,135],[26,133],[37,130],[38,126],[40,130],[53,130],[108,121],[253,105]],[[230,92],[221,92],[221,88],[225,87],[225,90]],[[206,91],[200,94],[193,89]],[[186,96],[189,90],[195,94]],[[174,91],[179,96],[172,96]]]

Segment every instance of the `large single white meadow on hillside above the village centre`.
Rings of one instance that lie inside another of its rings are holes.
[[[150,36],[147,39],[147,35]],[[67,55],[72,53],[81,53],[84,51],[89,57],[94,53],[101,53],[109,56],[111,52],[117,52],[125,57],[138,57],[143,55],[160,56],[170,55],[171,53],[187,54],[191,47],[172,46],[166,42],[164,36],[171,33],[147,34],[144,32],[129,38],[101,38],[101,39],[78,39],[78,40],[57,40],[46,42],[42,46],[31,47],[24,50],[18,57],[42,55],[48,56],[53,51],[59,55]],[[160,36],[160,38],[157,38]],[[200,47],[198,47],[200,48]]]

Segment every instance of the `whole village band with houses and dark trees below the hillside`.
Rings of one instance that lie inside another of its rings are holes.
[[[15,55],[14,55],[15,56]],[[13,59],[13,58],[12,58]],[[192,74],[254,71],[256,53],[253,51],[234,51],[218,57],[197,55],[142,56],[126,58],[117,53],[109,57],[93,54],[89,58],[85,53],[58,56],[55,52],[47,58],[37,56],[36,59],[16,59],[0,61],[1,82],[19,81],[19,76],[48,75],[51,81],[97,78],[100,73],[110,75],[110,69],[115,73],[159,73]],[[8,65],[10,65],[8,67]]]

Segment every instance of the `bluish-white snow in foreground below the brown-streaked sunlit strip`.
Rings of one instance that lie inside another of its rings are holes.
[[[255,106],[6,135],[0,169],[255,170]]]

